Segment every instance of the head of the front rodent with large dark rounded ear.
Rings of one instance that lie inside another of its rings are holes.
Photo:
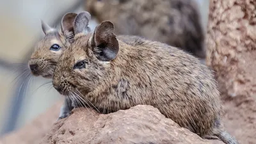
[[[83,25],[75,20],[74,43],[63,52],[54,71],[52,84],[62,95],[77,91],[86,94],[99,88],[102,77],[108,76],[110,61],[118,54],[119,44],[111,22],[102,22],[93,33],[84,33]]]

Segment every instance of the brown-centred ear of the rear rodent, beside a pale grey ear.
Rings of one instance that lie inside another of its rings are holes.
[[[61,31],[74,31],[74,21],[77,13],[66,13],[61,19]]]

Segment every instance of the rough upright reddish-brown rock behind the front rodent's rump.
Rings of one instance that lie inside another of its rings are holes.
[[[240,143],[256,143],[256,1],[211,0],[207,65],[216,71],[224,125]]]

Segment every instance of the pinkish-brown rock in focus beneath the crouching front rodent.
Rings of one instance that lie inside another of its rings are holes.
[[[140,144],[221,144],[203,140],[188,129],[179,127],[152,106],[134,106],[108,115],[92,109],[75,109],[68,118],[59,120],[41,144],[60,143],[140,143]]]

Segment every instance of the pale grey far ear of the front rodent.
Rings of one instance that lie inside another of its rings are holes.
[[[91,29],[88,27],[89,21],[91,20],[91,14],[89,12],[81,12],[76,16],[74,22],[74,32],[77,33],[88,33]]]

